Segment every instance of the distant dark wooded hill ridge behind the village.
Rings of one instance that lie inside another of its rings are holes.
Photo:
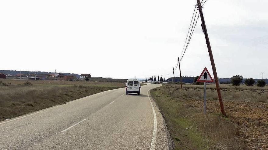
[[[16,75],[16,74],[19,74],[20,71],[16,71],[16,70],[0,70],[1,73],[5,74],[5,75]],[[22,74],[35,74],[35,71],[21,71]],[[50,74],[50,73],[54,73],[54,72],[36,72],[37,75],[39,74]],[[60,74],[63,74],[63,75],[75,75],[76,78],[80,78],[80,75],[78,74],[74,74],[74,73],[64,73],[64,72],[58,72]]]

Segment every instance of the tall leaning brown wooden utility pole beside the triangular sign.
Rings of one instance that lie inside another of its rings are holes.
[[[197,6],[198,6],[200,18],[202,21],[201,26],[202,26],[203,32],[205,34],[206,45],[207,45],[208,53],[210,56],[210,62],[211,62],[212,71],[213,71],[213,75],[214,75],[214,79],[215,79],[215,84],[216,84],[216,88],[217,88],[217,92],[218,92],[218,97],[219,97],[219,102],[220,102],[220,110],[221,110],[222,115],[226,116],[226,113],[224,111],[222,97],[221,97],[221,92],[220,92],[220,84],[219,84],[218,75],[217,75],[217,71],[216,71],[216,67],[215,67],[215,63],[214,63],[214,59],[213,59],[213,54],[212,54],[211,47],[210,47],[210,41],[209,41],[207,30],[206,30],[206,23],[205,23],[204,15],[202,12],[201,3],[200,3],[200,0],[196,0],[196,1],[197,1]]]

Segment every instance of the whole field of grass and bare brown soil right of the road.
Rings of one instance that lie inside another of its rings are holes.
[[[203,115],[203,85],[183,85],[183,88],[167,84],[151,91],[175,149],[267,148],[267,86],[221,85],[226,118],[220,114],[215,85],[207,85],[207,115]]]

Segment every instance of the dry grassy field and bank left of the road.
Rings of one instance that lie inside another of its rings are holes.
[[[119,82],[0,80],[0,121],[125,87]],[[25,85],[30,82],[32,85]]]

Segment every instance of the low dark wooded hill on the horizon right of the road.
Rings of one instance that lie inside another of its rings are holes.
[[[182,77],[182,82],[193,83],[194,79],[195,79],[195,77]],[[172,78],[168,78],[167,80],[168,80],[168,82],[171,82]],[[254,80],[257,83],[257,81],[261,80],[261,79],[254,79]],[[268,79],[263,79],[263,80],[268,84]],[[180,79],[180,77],[174,77],[173,81],[174,82],[181,82],[181,79]],[[221,84],[230,84],[231,83],[231,78],[219,78],[219,82]],[[244,82],[245,82],[245,79],[243,79],[242,83],[244,83]]]

